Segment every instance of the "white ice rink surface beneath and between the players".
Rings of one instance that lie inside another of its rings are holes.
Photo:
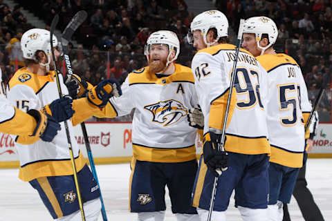
[[[100,187],[107,210],[108,220],[136,220],[135,213],[128,212],[129,164],[96,166]],[[46,207],[39,199],[37,191],[30,184],[18,179],[18,169],[0,169],[0,220],[52,220]],[[306,178],[315,202],[320,207],[325,220],[332,220],[332,159],[308,159]],[[170,211],[167,197],[166,221],[175,221]],[[304,220],[294,198],[288,207],[293,221]],[[227,211],[228,220],[241,220],[234,208],[232,198]],[[102,220],[100,215],[99,220]]]

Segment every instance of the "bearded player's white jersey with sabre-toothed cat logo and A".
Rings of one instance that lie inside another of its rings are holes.
[[[132,124],[133,157],[149,162],[185,162],[196,157],[197,129],[187,113],[197,107],[190,68],[175,64],[175,73],[156,77],[149,67],[130,73],[121,86],[122,96],[111,97],[102,115],[127,115],[135,108]]]

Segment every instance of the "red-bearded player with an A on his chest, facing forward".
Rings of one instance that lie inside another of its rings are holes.
[[[135,108],[129,211],[138,213],[140,221],[164,220],[166,185],[177,220],[199,220],[190,203],[197,170],[197,129],[187,122],[198,99],[192,71],[175,63],[179,52],[174,32],[152,33],[145,48],[149,66],[129,73],[122,96],[112,97],[95,114],[117,117]]]

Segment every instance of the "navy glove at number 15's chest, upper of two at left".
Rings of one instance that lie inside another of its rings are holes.
[[[52,103],[44,106],[42,112],[52,115],[57,122],[64,122],[67,119],[71,119],[75,113],[73,110],[73,99],[69,96],[55,99]]]

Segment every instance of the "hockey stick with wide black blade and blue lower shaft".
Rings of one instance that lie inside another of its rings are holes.
[[[71,22],[68,23],[68,25],[64,29],[64,32],[62,32],[62,37],[61,37],[60,42],[62,44],[62,49],[64,51],[64,60],[65,60],[65,64],[66,64],[66,70],[69,75],[68,77],[70,77],[70,78],[71,78],[71,74],[73,74],[73,70],[71,68],[71,59],[69,58],[68,50],[67,50],[68,42],[71,40],[71,37],[73,36],[73,33],[75,32],[75,30],[85,21],[87,16],[88,16],[88,14],[84,10],[77,12],[76,15],[73,17],[73,19],[71,20]],[[86,133],[86,126],[85,126],[84,122],[81,123],[81,128],[82,128],[82,133],[83,133],[83,137],[84,137],[86,152],[88,153],[88,157],[89,157],[91,171],[93,173],[93,177],[95,177],[95,181],[97,182],[97,184],[99,186],[100,202],[102,204],[102,220],[107,221],[104,200],[102,200],[102,191],[100,189],[98,175],[97,175],[97,171],[95,169],[95,162],[93,161],[91,146],[90,146],[90,142],[88,139],[88,133]]]

